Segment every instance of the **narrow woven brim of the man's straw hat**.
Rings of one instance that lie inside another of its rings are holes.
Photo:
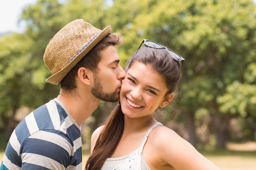
[[[84,48],[83,51],[81,51],[76,58],[74,58],[70,63],[68,63],[67,66],[62,68],[60,71],[57,73],[53,74],[49,78],[46,79],[46,82],[52,83],[52,84],[59,84],[60,81],[68,74],[68,72],[80,61],[85,54],[87,54],[96,44],[100,42],[104,37],[106,37],[108,34],[111,33],[111,27],[107,26],[104,28],[99,35],[92,40],[92,42]]]

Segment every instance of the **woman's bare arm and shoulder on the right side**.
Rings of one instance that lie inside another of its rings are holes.
[[[160,129],[161,128],[161,129]],[[156,147],[160,158],[177,170],[219,170],[176,132],[162,126],[157,132]]]

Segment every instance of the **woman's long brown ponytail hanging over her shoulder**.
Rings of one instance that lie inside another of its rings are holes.
[[[88,158],[86,170],[100,170],[107,158],[109,158],[116,149],[124,131],[124,114],[121,105],[110,113],[106,120],[99,138],[96,141],[93,152]]]

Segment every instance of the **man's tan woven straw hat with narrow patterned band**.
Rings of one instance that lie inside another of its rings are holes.
[[[68,23],[54,35],[45,49],[44,64],[52,73],[46,81],[59,84],[77,62],[110,33],[110,26],[101,31],[83,19]]]

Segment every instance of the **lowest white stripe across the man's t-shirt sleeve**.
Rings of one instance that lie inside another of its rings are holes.
[[[65,167],[59,162],[46,156],[37,155],[34,153],[22,153],[21,160],[23,163],[35,164],[48,169],[65,169]]]

